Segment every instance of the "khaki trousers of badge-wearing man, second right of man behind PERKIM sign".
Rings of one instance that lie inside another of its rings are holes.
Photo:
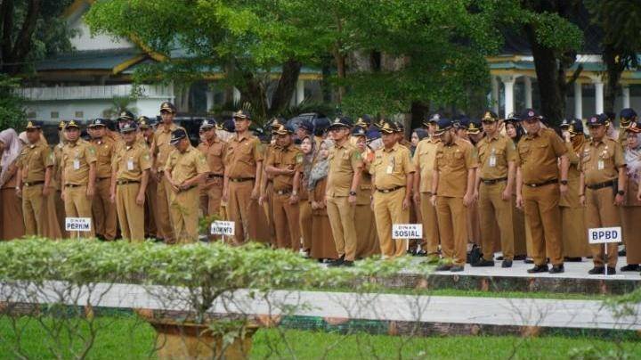
[[[144,206],[135,201],[140,191],[140,184],[116,185],[116,208],[118,224],[123,239],[144,241]]]

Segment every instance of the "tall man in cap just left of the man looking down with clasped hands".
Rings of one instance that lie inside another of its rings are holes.
[[[151,144],[153,165],[150,173],[158,184],[158,217],[156,218],[156,225],[158,226],[159,236],[162,237],[166,243],[174,243],[175,239],[172,227],[173,219],[169,213],[169,198],[172,193],[171,185],[166,182],[166,176],[164,176],[166,160],[169,157],[169,153],[174,150],[169,144],[169,140],[171,139],[172,132],[179,128],[174,124],[175,111],[175,106],[171,102],[163,102],[160,104],[162,123],[158,125],[156,134],[154,135],[154,141]]]

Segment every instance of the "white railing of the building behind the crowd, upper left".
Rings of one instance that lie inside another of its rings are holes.
[[[90,100],[111,99],[114,97],[131,96],[132,85],[96,85],[96,86],[55,86],[55,87],[25,87],[17,93],[30,101],[45,100]],[[148,99],[167,99],[173,97],[170,86],[140,86],[138,97]]]

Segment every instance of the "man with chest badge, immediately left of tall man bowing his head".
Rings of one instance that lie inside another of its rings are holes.
[[[476,145],[479,169],[476,172],[475,195],[479,200],[483,258],[472,266],[494,266],[495,222],[499,223],[503,263],[512,267],[514,228],[512,226],[512,189],[515,183],[515,144],[499,134],[499,117],[486,111],[481,119],[485,137]]]

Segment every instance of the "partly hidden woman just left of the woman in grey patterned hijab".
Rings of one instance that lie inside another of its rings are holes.
[[[303,235],[303,250],[310,255],[312,251],[312,204],[309,201],[309,183],[310,173],[312,172],[312,162],[314,157],[315,142],[310,135],[305,135],[301,139],[301,151],[303,151],[303,176],[300,177],[301,184],[298,186],[300,192],[300,201],[298,203],[298,225]]]

